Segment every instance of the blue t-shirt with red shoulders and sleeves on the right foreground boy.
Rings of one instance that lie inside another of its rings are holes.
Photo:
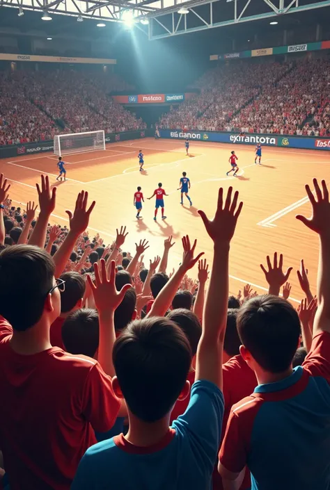
[[[330,334],[313,338],[304,364],[279,382],[260,384],[233,406],[221,464],[247,464],[252,490],[329,490]]]

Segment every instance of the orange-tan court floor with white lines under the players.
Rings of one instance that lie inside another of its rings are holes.
[[[229,170],[230,150],[239,158],[239,177],[226,177]],[[139,172],[137,154],[145,155],[145,171]],[[292,266],[290,276],[293,301],[301,299],[296,270],[300,259],[305,259],[313,291],[317,272],[318,243],[311,231],[295,220],[296,213],[310,213],[304,184],[313,177],[323,178],[330,185],[330,154],[313,150],[287,148],[262,149],[262,165],[254,165],[254,147],[209,142],[191,142],[190,156],[185,155],[184,142],[178,140],[134,140],[107,145],[105,152],[88,152],[63,157],[68,163],[66,182],[56,182],[57,157],[53,154],[30,154],[0,161],[0,169],[10,179],[10,198],[24,207],[36,200],[36,182],[41,173],[48,174],[57,187],[56,210],[52,221],[68,223],[66,209],[72,209],[79,190],[88,190],[97,204],[91,215],[90,231],[100,233],[111,243],[116,228],[126,225],[129,230],[125,249],[134,251],[134,243],[147,238],[145,263],[163,250],[164,238],[173,235],[169,268],[178,266],[181,259],[181,240],[184,234],[198,238],[198,251],[206,259],[212,257],[212,243],[205,234],[197,210],[212,216],[217,202],[219,186],[233,185],[239,190],[244,209],[239,218],[237,232],[230,251],[230,293],[237,293],[244,283],[250,282],[258,293],[266,290],[260,262],[274,251],[284,254],[284,266]],[[182,172],[191,180],[190,196],[193,206],[184,202],[180,206],[177,188]],[[148,201],[163,183],[166,193],[167,219],[154,222],[154,199]],[[133,195],[141,186],[145,204],[136,220]],[[196,271],[191,274],[196,277]]]

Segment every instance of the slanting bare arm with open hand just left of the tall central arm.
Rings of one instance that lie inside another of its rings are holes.
[[[175,293],[178,291],[178,288],[181,284],[184,275],[187,271],[194,267],[198,259],[204,254],[198,254],[194,258],[194,252],[196,248],[197,240],[194,241],[194,245],[191,247],[189,236],[184,236],[182,238],[183,245],[183,259],[182,264],[178,268],[178,270],[173,274],[171,279],[169,279],[168,283],[162,288],[162,291],[157,295],[155,302],[152,304],[152,307],[148,313],[148,317],[150,316],[164,316],[169,307],[171,307],[171,303],[173,301],[173,297]]]

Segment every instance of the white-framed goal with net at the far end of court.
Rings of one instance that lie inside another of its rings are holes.
[[[104,131],[88,133],[59,134],[54,136],[54,155],[70,155],[72,153],[91,152],[105,149]]]

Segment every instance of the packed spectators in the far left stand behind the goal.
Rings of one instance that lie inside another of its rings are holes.
[[[47,140],[61,133],[145,129],[141,119],[107,95],[119,88],[125,89],[125,83],[115,74],[0,74],[0,145]]]

